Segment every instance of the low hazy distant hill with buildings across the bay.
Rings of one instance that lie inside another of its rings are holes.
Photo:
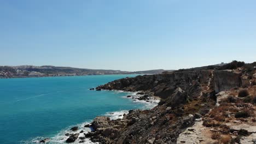
[[[160,74],[164,69],[146,71],[121,71],[105,69],[81,69],[72,67],[55,67],[52,65],[34,66],[0,66],[0,78],[44,77],[44,76],[79,76],[79,75],[113,75],[113,74]]]

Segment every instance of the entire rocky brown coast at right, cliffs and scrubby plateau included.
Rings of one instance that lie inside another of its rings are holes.
[[[91,90],[140,91],[133,100],[157,97],[160,102],[153,109],[130,110],[118,119],[98,116],[86,125],[91,131],[82,139],[125,144],[256,143],[255,69],[126,77]],[[75,134],[69,138],[73,137],[79,139]]]

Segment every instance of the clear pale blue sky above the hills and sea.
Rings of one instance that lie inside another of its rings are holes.
[[[256,61],[256,1],[0,0],[0,65],[179,69]]]

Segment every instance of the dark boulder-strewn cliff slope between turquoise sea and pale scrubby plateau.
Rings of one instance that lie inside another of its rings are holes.
[[[199,112],[197,116],[200,117],[215,104],[209,97],[213,91],[211,85],[212,71],[200,70],[137,76],[99,86],[102,89],[144,91],[162,100],[151,110],[130,111],[123,119],[106,120],[107,126],[100,128],[94,125],[103,122],[96,118],[92,123],[96,131],[90,133],[91,140],[102,143],[176,143],[178,135],[194,124],[194,118],[189,114]],[[189,105],[184,106],[188,102]]]

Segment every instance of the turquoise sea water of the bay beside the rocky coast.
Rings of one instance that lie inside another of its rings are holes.
[[[63,143],[70,127],[89,130],[83,125],[98,115],[145,109],[145,104],[124,98],[131,93],[89,91],[126,76],[135,75],[0,79],[0,143],[36,143],[43,137]]]

